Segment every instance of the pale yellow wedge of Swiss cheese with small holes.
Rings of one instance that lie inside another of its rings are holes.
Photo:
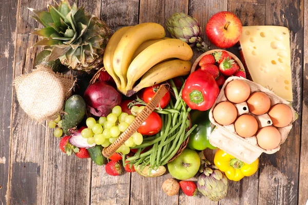
[[[240,44],[252,80],[292,101],[288,29],[281,26],[244,26]]]

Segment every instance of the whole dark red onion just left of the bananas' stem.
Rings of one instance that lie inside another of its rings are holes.
[[[84,100],[91,114],[106,117],[113,107],[121,104],[122,95],[112,86],[104,82],[96,82],[88,86]]]

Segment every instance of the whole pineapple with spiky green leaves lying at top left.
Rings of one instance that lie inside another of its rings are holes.
[[[67,0],[47,11],[29,8],[33,17],[44,26],[33,34],[41,36],[34,46],[50,50],[48,61],[60,59],[61,63],[72,70],[90,71],[103,66],[103,54],[111,36],[111,29],[94,15],[85,14],[84,8],[72,7]]]

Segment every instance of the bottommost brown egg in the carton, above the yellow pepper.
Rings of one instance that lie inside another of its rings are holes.
[[[261,128],[257,133],[258,145],[265,150],[277,148],[280,140],[280,132],[273,126]]]

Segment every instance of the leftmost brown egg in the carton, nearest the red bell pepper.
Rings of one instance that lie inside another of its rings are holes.
[[[237,117],[237,109],[230,102],[221,102],[215,106],[213,117],[221,125],[230,125]]]

